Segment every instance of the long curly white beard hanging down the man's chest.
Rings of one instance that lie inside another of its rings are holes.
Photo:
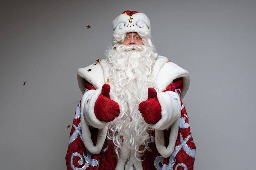
[[[148,88],[155,80],[151,72],[156,60],[156,53],[146,50],[146,46],[119,46],[107,55],[110,66],[110,97],[120,106],[120,115],[110,126],[116,153],[122,146],[135,152],[138,160],[143,155],[149,139],[149,126],[138,110],[139,103],[148,98]],[[142,147],[141,147],[142,146]]]

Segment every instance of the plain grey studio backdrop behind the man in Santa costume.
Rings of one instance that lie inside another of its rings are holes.
[[[1,0],[0,170],[66,169],[76,71],[104,58],[126,10],[146,13],[159,55],[191,74],[183,102],[195,170],[254,170],[255,9],[255,0]]]

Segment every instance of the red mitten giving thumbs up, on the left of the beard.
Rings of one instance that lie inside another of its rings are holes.
[[[101,94],[95,102],[94,113],[97,119],[110,122],[119,116],[120,108],[117,102],[109,98],[110,85],[103,84]]]

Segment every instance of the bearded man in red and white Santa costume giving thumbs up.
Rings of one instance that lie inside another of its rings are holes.
[[[189,73],[159,56],[144,13],[113,20],[106,59],[77,72],[83,93],[68,170],[193,170],[195,144],[182,103]]]

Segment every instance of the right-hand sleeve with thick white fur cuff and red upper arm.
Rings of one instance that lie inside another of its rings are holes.
[[[170,157],[178,135],[181,105],[180,93],[183,88],[182,78],[175,79],[162,93],[157,95],[157,99],[162,108],[162,118],[152,126],[155,128],[155,144],[162,157]],[[161,98],[162,97],[162,98]],[[162,128],[156,128],[157,124]],[[163,130],[169,130],[170,135],[164,135]],[[166,146],[167,141],[167,146]]]

